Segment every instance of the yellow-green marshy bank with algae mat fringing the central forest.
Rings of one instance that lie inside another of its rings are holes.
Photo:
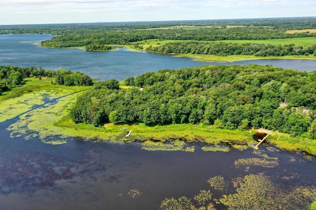
[[[85,89],[87,87],[53,85],[50,79],[30,79],[25,86],[15,87],[0,96],[0,122],[19,117],[16,123],[8,127],[8,130],[11,130],[11,137],[39,137],[43,142],[50,144],[66,143],[69,137],[81,137],[118,143],[144,141],[143,148],[148,150],[192,152],[194,148],[185,142],[205,142],[210,146],[202,148],[204,151],[228,151],[227,145],[245,149],[254,141],[254,130],[225,130],[203,125],[145,126],[109,123],[94,127],[74,124],[69,112]],[[43,98],[48,99],[48,102],[44,104]],[[125,135],[129,130],[132,132],[127,137]],[[277,140],[278,136],[280,138]],[[316,155],[316,140],[291,138],[283,133],[271,135],[268,140],[270,144],[281,149],[303,150]],[[222,146],[218,146],[219,144]]]

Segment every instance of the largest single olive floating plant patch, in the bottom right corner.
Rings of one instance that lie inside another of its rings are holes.
[[[309,210],[316,196],[315,186],[284,188],[261,175],[247,175],[239,184],[235,194],[220,199],[228,210]]]

